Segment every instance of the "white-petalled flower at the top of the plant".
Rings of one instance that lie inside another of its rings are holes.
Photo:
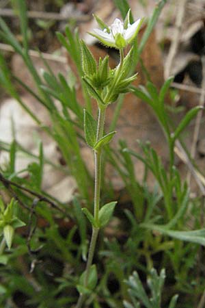
[[[137,36],[141,23],[142,20],[138,19],[132,25],[128,23],[125,28],[124,23],[119,18],[115,18],[115,21],[110,27],[94,29],[94,33],[90,34],[98,38],[100,42],[108,47],[122,49]]]

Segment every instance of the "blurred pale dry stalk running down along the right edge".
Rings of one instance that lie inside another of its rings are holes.
[[[204,107],[204,101],[205,101],[205,56],[202,56],[202,92],[200,95],[200,106]],[[202,112],[203,110],[200,110],[197,114],[197,118],[195,120],[195,127],[193,131],[193,141],[191,145],[191,158],[194,159],[195,157],[195,151],[196,151],[196,144],[198,140],[198,136],[200,133],[200,123],[202,120]],[[187,182],[190,183],[191,181],[191,172],[188,172],[187,174]]]

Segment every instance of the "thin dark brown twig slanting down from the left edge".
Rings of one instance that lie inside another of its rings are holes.
[[[5,188],[7,188],[8,190],[10,190],[11,186],[15,186],[16,188],[19,188],[20,190],[24,190],[25,192],[28,192],[29,194],[32,194],[33,196],[36,196],[39,201],[44,201],[46,203],[49,203],[51,205],[51,207],[57,209],[58,211],[61,211],[61,213],[63,213],[64,215],[66,215],[67,217],[68,214],[66,213],[66,211],[64,209],[61,209],[61,207],[59,207],[56,203],[54,203],[53,201],[51,201],[49,198],[47,198],[46,196],[43,196],[42,194],[38,194],[38,192],[34,192],[33,190],[29,190],[29,188],[25,188],[22,185],[19,185],[17,183],[14,183],[13,181],[10,181],[8,179],[5,179],[5,177],[3,177],[3,175],[0,173],[0,181],[1,183],[3,183],[3,185],[5,186]],[[18,202],[22,205],[22,201],[19,201],[18,196],[16,196],[16,193],[12,190],[13,195],[15,194],[14,198],[16,198],[18,200]],[[26,209],[29,209],[30,211],[30,207],[27,207],[27,205],[23,205]],[[70,218],[70,217],[69,217]]]

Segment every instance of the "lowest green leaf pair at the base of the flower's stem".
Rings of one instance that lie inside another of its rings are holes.
[[[89,294],[90,292],[92,292],[92,290],[94,290],[98,282],[98,273],[97,273],[96,265],[92,264],[92,266],[90,267],[90,272],[89,272],[89,276],[87,279],[87,287],[84,287],[85,274],[86,274],[86,270],[83,272],[83,274],[81,274],[81,277],[79,279],[79,285],[77,285],[77,290],[80,293]]]

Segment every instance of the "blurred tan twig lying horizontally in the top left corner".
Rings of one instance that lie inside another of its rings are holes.
[[[0,16],[4,17],[18,17],[16,12],[12,9],[4,8],[0,9]],[[64,16],[64,14],[55,13],[55,12],[38,12],[38,11],[28,11],[28,18],[40,18],[40,19],[49,19],[50,21],[68,21],[69,19],[74,19],[75,21],[86,22],[90,20],[88,15],[77,15],[69,14]]]

